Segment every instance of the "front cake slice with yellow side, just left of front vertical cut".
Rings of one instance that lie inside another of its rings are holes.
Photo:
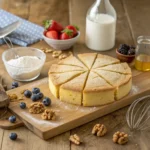
[[[88,71],[60,86],[60,100],[68,103],[81,105],[82,91],[85,86]]]

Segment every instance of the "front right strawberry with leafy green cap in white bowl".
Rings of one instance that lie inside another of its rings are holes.
[[[60,40],[67,40],[71,39],[73,37],[73,31],[69,29],[65,29],[62,31],[62,34],[60,35]]]

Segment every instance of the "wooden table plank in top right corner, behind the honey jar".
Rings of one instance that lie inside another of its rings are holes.
[[[149,0],[123,0],[124,8],[135,40],[140,35],[150,35]]]

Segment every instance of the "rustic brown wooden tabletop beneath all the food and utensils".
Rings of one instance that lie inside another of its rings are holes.
[[[88,8],[94,0],[0,0],[0,7],[31,22],[42,25],[45,19],[55,19],[64,26],[73,23],[80,27],[80,41],[71,49],[75,54],[92,52],[84,45],[85,17]],[[116,46],[120,43],[136,44],[140,35],[150,35],[150,1],[149,0],[111,0],[117,12]],[[44,41],[40,41],[33,47],[48,47]],[[7,49],[6,45],[0,46],[0,55]],[[110,51],[115,54],[115,48]],[[47,54],[46,63],[41,76],[47,77],[47,71],[51,62],[57,62],[51,54]],[[9,77],[0,59],[0,75],[10,89],[12,79]],[[26,83],[20,83],[23,85]],[[15,130],[0,129],[0,150],[149,150],[150,132],[138,133],[134,138],[127,126],[125,114],[127,108],[118,110],[112,114],[94,120],[88,124],[44,141],[34,135],[25,127]],[[91,129],[96,123],[104,123],[109,132],[103,138],[91,135]],[[124,146],[112,142],[112,134],[115,131],[124,131],[129,134],[129,142]],[[9,140],[10,132],[16,132],[17,141]],[[71,134],[78,134],[83,144],[76,146],[69,142]]]

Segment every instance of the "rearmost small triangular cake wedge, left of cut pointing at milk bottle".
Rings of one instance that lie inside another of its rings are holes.
[[[85,53],[78,54],[78,58],[89,68],[91,69],[97,54],[96,53]]]

